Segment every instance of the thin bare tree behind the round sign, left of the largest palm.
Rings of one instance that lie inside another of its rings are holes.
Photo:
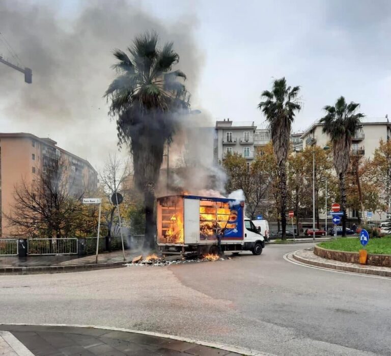
[[[115,214],[117,207],[111,202],[111,196],[115,193],[125,195],[126,189],[124,189],[124,182],[129,176],[129,173],[128,161],[122,160],[117,153],[114,155],[109,154],[102,172],[99,173],[99,181],[104,195],[107,198],[107,204],[104,205],[102,211],[102,216],[107,228],[107,236],[111,236],[111,231],[114,228],[113,225],[118,218]]]

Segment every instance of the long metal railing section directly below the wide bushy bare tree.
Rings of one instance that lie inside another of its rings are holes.
[[[28,238],[27,255],[77,255],[77,238]]]

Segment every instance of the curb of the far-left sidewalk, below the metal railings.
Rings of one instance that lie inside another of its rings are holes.
[[[0,275],[35,275],[39,273],[64,273],[64,272],[79,272],[91,271],[105,268],[123,267],[125,263],[131,261],[109,262],[109,263],[92,263],[92,264],[69,264],[55,266],[37,266],[37,267],[0,267]]]

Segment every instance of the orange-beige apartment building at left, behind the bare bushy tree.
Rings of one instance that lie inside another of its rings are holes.
[[[98,173],[90,162],[70,153],[51,139],[39,138],[31,133],[0,133],[0,208],[2,236],[10,233],[4,214],[9,214],[14,203],[14,189],[24,181],[33,184],[45,173],[53,159],[65,163],[67,177],[72,182],[72,193],[93,191],[98,186]]]

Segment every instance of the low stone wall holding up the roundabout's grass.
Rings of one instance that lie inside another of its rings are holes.
[[[329,260],[360,263],[358,252],[327,250],[315,245],[314,254],[319,257],[328,258]],[[391,267],[391,255],[368,254],[367,264],[372,266]]]

